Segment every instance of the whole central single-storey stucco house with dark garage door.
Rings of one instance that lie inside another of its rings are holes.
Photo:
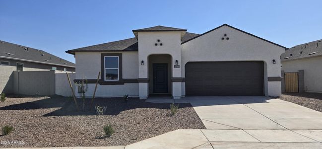
[[[200,35],[164,26],[132,32],[134,38],[66,51],[75,55],[75,81],[89,83],[88,96],[98,72],[98,97],[281,95],[283,46],[227,24]]]

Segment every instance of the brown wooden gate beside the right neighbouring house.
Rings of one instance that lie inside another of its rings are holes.
[[[285,92],[299,92],[298,73],[285,73]]]

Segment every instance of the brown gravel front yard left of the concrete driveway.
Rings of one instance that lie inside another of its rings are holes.
[[[95,105],[106,106],[105,115],[97,116]],[[169,108],[137,98],[96,98],[91,111],[77,112],[67,97],[7,97],[0,102],[0,127],[14,131],[0,133],[0,147],[125,146],[177,129],[205,129],[190,103],[180,103],[174,116]],[[108,124],[115,130],[110,138],[103,131]]]

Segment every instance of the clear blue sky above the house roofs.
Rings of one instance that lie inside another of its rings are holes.
[[[285,47],[322,39],[322,0],[0,0],[0,40],[75,62],[66,50],[155,25],[204,33],[224,23]]]

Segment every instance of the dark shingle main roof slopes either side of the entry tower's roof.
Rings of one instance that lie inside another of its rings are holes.
[[[199,34],[194,33],[186,33],[183,37],[181,42],[184,42],[186,40],[189,40],[195,36],[198,36]],[[82,51],[92,51],[92,52],[101,52],[101,51],[138,51],[138,44],[136,38],[129,38],[119,41],[113,41],[73,50],[68,50],[66,53],[69,54],[75,54],[75,52],[82,52]]]

